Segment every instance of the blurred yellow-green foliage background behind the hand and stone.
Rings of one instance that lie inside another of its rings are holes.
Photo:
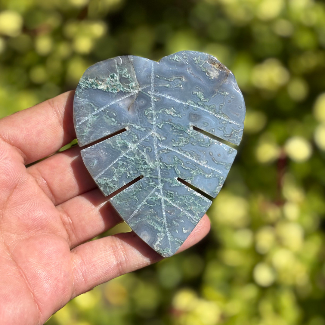
[[[0,0],[0,117],[91,64],[200,50],[243,91],[243,141],[187,252],[75,299],[51,325],[325,324],[325,5],[313,0]]]

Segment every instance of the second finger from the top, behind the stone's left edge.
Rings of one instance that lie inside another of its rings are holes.
[[[54,205],[97,188],[80,150],[78,146],[73,147],[27,168]]]

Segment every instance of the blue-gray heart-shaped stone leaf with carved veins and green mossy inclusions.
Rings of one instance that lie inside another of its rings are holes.
[[[162,256],[173,255],[220,191],[237,151],[245,104],[234,75],[211,55],[184,51],[159,62],[98,62],[74,97],[78,143],[89,173],[127,224]],[[195,127],[193,129],[193,126]]]

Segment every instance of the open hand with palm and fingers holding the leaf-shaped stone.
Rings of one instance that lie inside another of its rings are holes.
[[[52,155],[76,137],[73,96],[0,120],[2,325],[43,324],[75,296],[162,259],[133,232],[88,241],[122,219],[88,174],[79,147]],[[209,230],[204,215],[179,252]]]

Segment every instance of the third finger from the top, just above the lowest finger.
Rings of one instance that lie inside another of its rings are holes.
[[[114,227],[123,219],[98,188],[57,206],[73,248]]]

